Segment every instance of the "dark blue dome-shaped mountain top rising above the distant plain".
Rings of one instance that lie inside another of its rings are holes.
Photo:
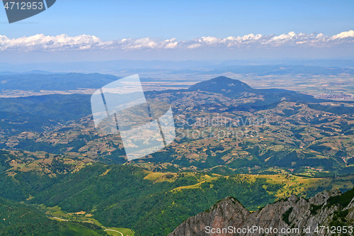
[[[189,87],[191,91],[210,91],[216,94],[228,93],[242,93],[245,91],[252,91],[253,89],[246,83],[238,79],[231,79],[229,77],[216,77],[204,82],[193,84]]]

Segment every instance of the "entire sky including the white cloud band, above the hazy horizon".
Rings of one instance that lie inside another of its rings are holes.
[[[57,0],[17,23],[0,11],[0,62],[352,58],[353,10],[352,0]]]

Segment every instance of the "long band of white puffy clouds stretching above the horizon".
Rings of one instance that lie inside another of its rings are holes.
[[[272,48],[272,47],[333,47],[336,45],[353,45],[354,30],[327,36],[322,33],[295,33],[282,35],[244,35],[238,37],[216,38],[202,37],[189,41],[157,40],[152,38],[125,38],[122,40],[105,41],[93,35],[57,35],[42,34],[29,37],[9,39],[0,35],[1,52],[31,52],[31,51],[71,51],[71,50],[171,50],[196,48]]]

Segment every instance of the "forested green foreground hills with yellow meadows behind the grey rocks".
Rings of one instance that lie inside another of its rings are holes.
[[[5,153],[6,156],[8,154]],[[183,220],[207,210],[226,196],[234,196],[249,210],[256,210],[292,193],[313,196],[324,189],[332,189],[332,183],[341,186],[338,181],[352,186],[350,181],[353,180],[350,176],[343,180],[312,180],[289,174],[221,176],[205,172],[162,173],[132,165],[103,163],[85,164],[79,171],[57,172],[51,177],[36,170],[17,171],[14,176],[6,176],[3,172],[0,177],[1,197],[25,201],[32,206],[59,207],[64,212],[58,216],[67,220],[80,220],[67,213],[84,211],[85,215],[91,215],[91,219],[98,220],[105,227],[130,228],[139,236],[167,235]],[[346,202],[346,199],[338,201]],[[29,235],[33,232],[45,235],[45,232],[33,230],[48,229],[50,232],[63,230],[70,235],[70,230],[77,228],[101,232],[101,228],[91,224],[53,222],[40,210],[25,204],[8,200],[2,200],[0,204],[6,206],[1,208],[4,215],[0,217],[11,223],[4,222],[3,230],[8,230],[4,232],[25,229]],[[8,206],[12,210],[8,210]],[[28,219],[23,218],[20,222],[18,215],[28,215]]]

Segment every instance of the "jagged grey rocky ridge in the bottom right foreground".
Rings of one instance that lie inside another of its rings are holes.
[[[169,236],[204,236],[210,233],[278,235],[275,230],[279,235],[305,235],[304,232],[306,235],[337,235],[341,232],[344,232],[341,235],[352,235],[353,227],[350,230],[350,225],[353,223],[354,189],[343,194],[338,190],[325,191],[309,199],[292,195],[254,212],[244,208],[236,198],[227,197],[210,210],[185,220]],[[321,232],[321,226],[324,226],[324,232]],[[270,229],[273,233],[267,233]]]

